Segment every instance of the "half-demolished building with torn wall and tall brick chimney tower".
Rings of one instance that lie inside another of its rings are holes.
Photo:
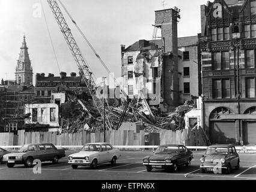
[[[178,38],[178,9],[156,11],[161,40],[121,46],[124,90],[129,97],[144,91],[151,106],[178,106],[198,96],[198,36]],[[145,94],[144,94],[145,95]]]

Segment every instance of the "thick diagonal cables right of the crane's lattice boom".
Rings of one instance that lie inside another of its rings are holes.
[[[59,4],[61,4],[61,6],[64,8],[64,10],[66,11],[67,15],[70,17],[70,19],[72,20],[72,22],[74,23],[74,25],[76,26],[76,28],[78,29],[78,31],[80,32],[80,34],[82,35],[82,37],[84,38],[84,40],[87,42],[88,46],[90,46],[91,50],[93,50],[94,54],[96,55],[96,57],[99,59],[99,61],[102,63],[103,67],[105,67],[106,71],[109,73],[109,76],[111,76],[111,78],[115,81],[115,83],[117,83],[118,86],[119,83],[117,82],[117,80],[115,79],[115,77],[112,76],[111,71],[109,71],[108,67],[106,66],[105,62],[102,60],[102,58],[100,58],[99,54],[96,52],[96,50],[94,49],[94,47],[92,46],[92,44],[90,43],[90,41],[87,39],[87,37],[85,37],[84,32],[82,32],[82,30],[79,28],[78,24],[75,22],[75,20],[73,19],[73,17],[71,16],[71,14],[69,13],[69,11],[67,10],[67,8],[65,7],[65,5],[61,2],[61,0],[58,0]],[[122,92],[124,92],[120,86],[120,89]]]

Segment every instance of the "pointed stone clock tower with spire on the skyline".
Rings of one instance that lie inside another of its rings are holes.
[[[33,85],[33,70],[31,67],[31,61],[29,59],[28,47],[26,46],[25,35],[23,37],[23,43],[20,47],[20,56],[17,60],[17,67],[15,73],[15,79],[17,84]]]

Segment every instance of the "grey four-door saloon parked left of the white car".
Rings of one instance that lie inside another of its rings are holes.
[[[17,153],[4,155],[3,161],[8,167],[14,167],[15,164],[32,167],[34,160],[52,161],[56,164],[62,157],[65,157],[64,149],[57,149],[51,143],[26,144]]]

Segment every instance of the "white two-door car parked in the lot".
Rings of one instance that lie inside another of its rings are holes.
[[[73,169],[78,169],[78,166],[90,166],[96,169],[97,165],[102,163],[114,165],[120,156],[120,150],[109,143],[88,143],[80,152],[69,155],[69,164]]]

